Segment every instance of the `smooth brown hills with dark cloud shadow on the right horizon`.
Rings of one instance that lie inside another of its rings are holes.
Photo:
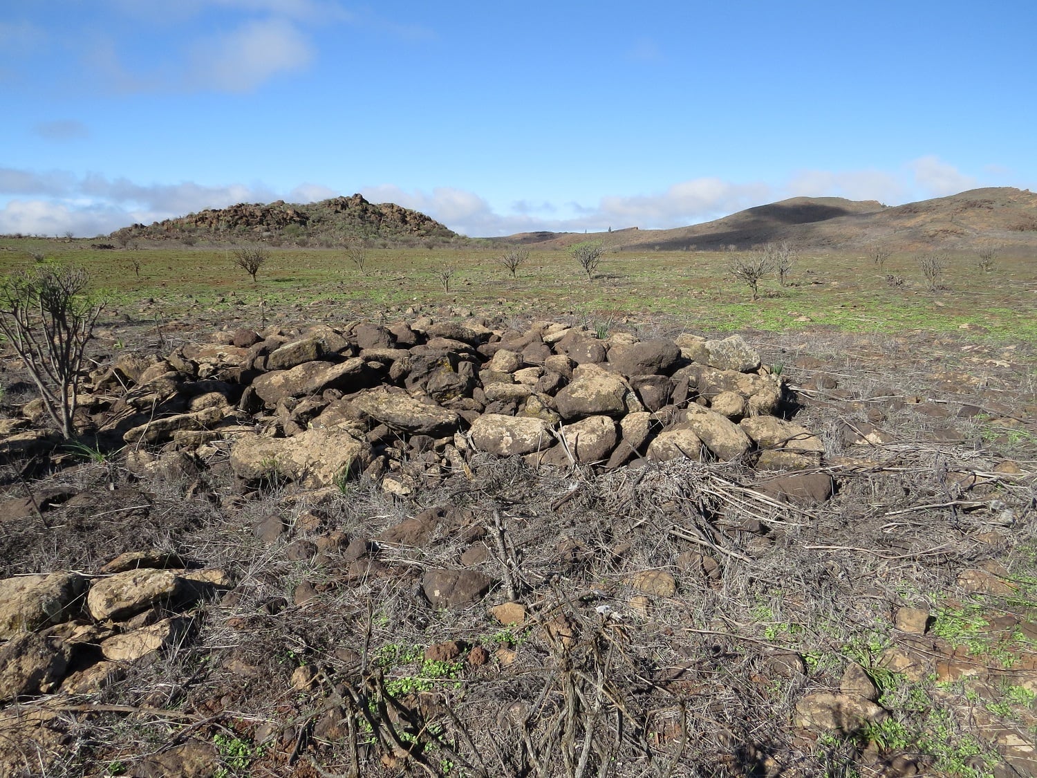
[[[619,249],[720,250],[789,241],[797,246],[860,249],[882,242],[895,251],[932,247],[971,250],[985,243],[1012,249],[1037,247],[1037,194],[1011,187],[974,189],[949,197],[886,206],[875,200],[793,197],[723,219],[675,229],[624,229],[597,233]],[[503,239],[539,247],[565,247],[584,233],[527,232]]]

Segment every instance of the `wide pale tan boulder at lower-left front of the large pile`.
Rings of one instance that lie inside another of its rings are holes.
[[[240,478],[287,478],[307,487],[332,487],[370,464],[371,448],[340,427],[307,429],[291,438],[250,435],[230,449]]]

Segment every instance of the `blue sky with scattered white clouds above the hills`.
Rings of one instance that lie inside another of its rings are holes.
[[[1032,0],[3,3],[0,232],[354,192],[493,235],[1033,189],[1034,30]]]

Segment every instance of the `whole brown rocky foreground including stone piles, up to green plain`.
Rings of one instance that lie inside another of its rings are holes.
[[[5,360],[0,774],[1037,773],[1025,346],[299,313]]]

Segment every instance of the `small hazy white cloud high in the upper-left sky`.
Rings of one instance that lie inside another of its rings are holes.
[[[206,89],[252,91],[280,73],[304,70],[313,56],[309,39],[289,22],[254,21],[196,44],[188,81]]]

